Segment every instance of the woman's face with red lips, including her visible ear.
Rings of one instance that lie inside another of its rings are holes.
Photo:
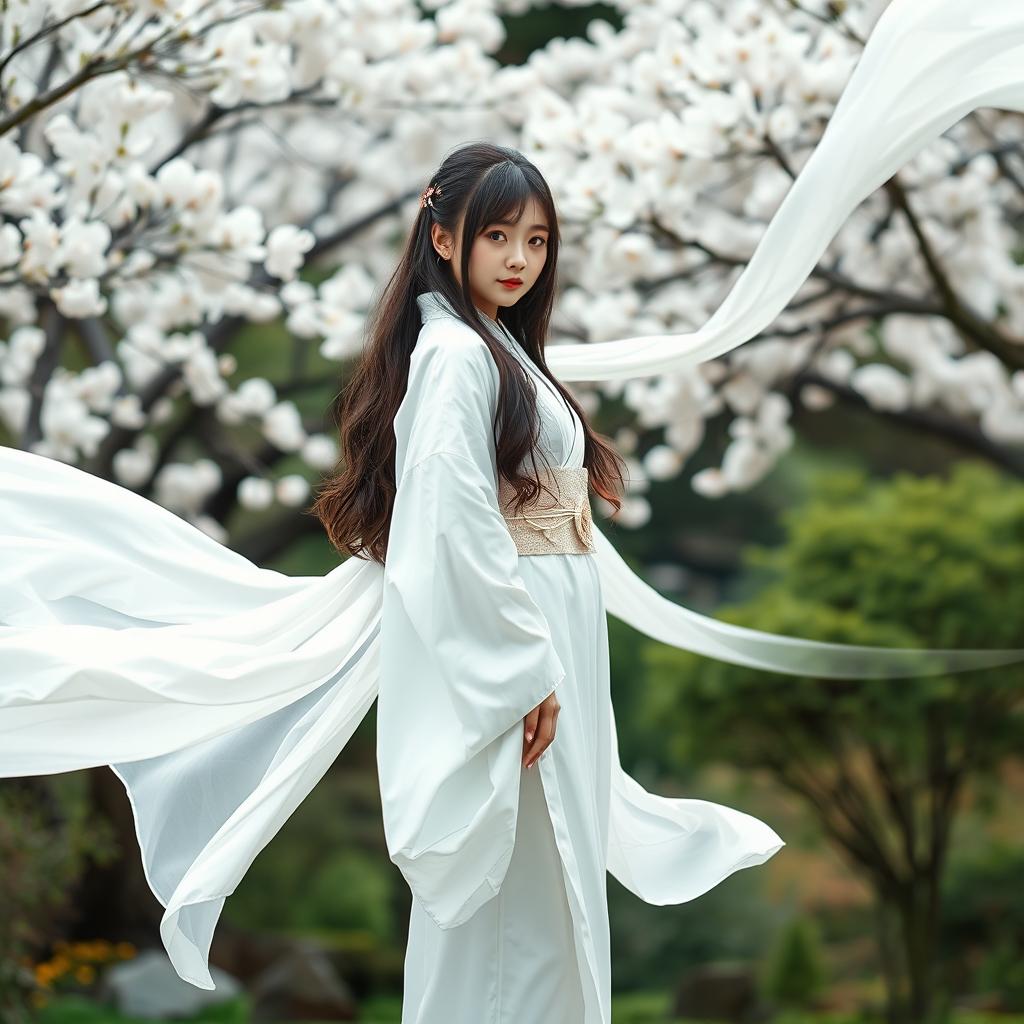
[[[463,222],[456,228],[455,248],[438,245],[435,225],[434,245],[442,257],[450,257],[455,280],[462,285],[462,253],[459,240]],[[484,224],[473,241],[469,254],[469,290],[473,304],[493,319],[499,306],[514,306],[537,283],[548,258],[549,227],[536,199],[530,198],[516,223],[495,221]],[[503,281],[518,279],[515,286]]]

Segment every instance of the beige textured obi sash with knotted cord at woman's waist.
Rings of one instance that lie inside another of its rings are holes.
[[[587,467],[541,466],[539,473],[541,482],[556,495],[556,500],[542,490],[517,514],[512,512],[515,488],[504,477],[499,481],[498,505],[516,550],[520,555],[593,553]]]

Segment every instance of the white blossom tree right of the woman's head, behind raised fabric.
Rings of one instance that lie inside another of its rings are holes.
[[[658,16],[669,6],[677,16]],[[883,6],[645,5],[621,32],[594,25],[589,42],[536,55],[552,93],[530,103],[523,141],[557,168],[572,228],[562,310],[583,338],[711,316]],[[1018,116],[977,112],[855,211],[769,331],[686,374],[604,385],[663,432],[633,453],[638,495],[679,472],[718,414],[731,441],[693,486],[745,489],[791,446],[794,410],[837,398],[1024,472],[1022,139]],[[643,522],[648,509],[640,497],[624,512]]]

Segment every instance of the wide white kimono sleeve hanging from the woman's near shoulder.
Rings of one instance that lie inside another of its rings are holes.
[[[394,419],[377,752],[389,856],[440,927],[499,890],[522,719],[565,675],[498,504],[497,396],[483,341],[428,321]]]

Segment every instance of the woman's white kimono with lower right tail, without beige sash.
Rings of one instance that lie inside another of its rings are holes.
[[[497,500],[497,366],[438,293],[417,301],[377,720],[388,849],[414,894],[402,1024],[606,1024],[606,870],[679,902],[783,843],[622,773],[596,559],[517,553]],[[582,466],[575,413],[488,327],[537,388],[539,464]],[[556,736],[527,770],[523,718],[552,690]]]

